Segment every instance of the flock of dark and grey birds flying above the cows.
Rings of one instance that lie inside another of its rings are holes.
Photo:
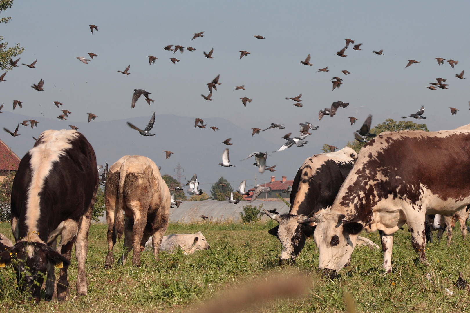
[[[92,34],[94,33],[94,31],[98,31],[98,26],[96,26],[94,24],[90,24],[89,26],[90,26],[90,30],[91,30]],[[203,34],[204,34],[204,31],[199,32],[199,33],[194,33],[194,36],[191,40],[194,40],[194,39],[199,38],[199,37],[204,37]],[[254,37],[257,38],[257,39],[265,39],[265,37],[260,36],[260,35],[254,35]],[[362,44],[354,45],[354,40],[352,40],[352,39],[345,39],[345,41],[346,41],[345,47],[342,48],[340,51],[338,51],[336,53],[338,56],[347,57],[347,55],[345,54],[345,51],[346,51],[346,49],[348,48],[348,46],[350,44],[353,45],[353,47],[352,47],[353,50],[356,50],[356,51],[361,51],[362,50],[360,48],[360,46]],[[176,53],[177,51],[179,51],[180,53],[183,53],[185,48],[189,52],[196,51],[196,48],[193,48],[191,46],[184,47],[184,46],[180,46],[180,45],[168,45],[168,46],[164,47],[164,50],[173,52],[173,55],[174,55],[174,53]],[[214,58],[212,56],[213,53],[214,53],[214,48],[212,47],[212,49],[209,53],[204,52],[204,56],[208,59],[213,59]],[[250,52],[247,52],[247,51],[244,51],[244,50],[241,50],[240,53],[241,54],[240,54],[239,59],[242,59],[244,56],[247,56],[248,54],[251,54]],[[384,55],[383,49],[381,49],[379,51],[373,51],[373,53],[375,53],[377,55]],[[90,56],[91,60],[94,60],[94,57],[98,56],[95,53],[88,53],[88,55]],[[154,64],[155,61],[158,59],[157,57],[155,57],[153,55],[148,55],[148,57],[149,57],[149,65]],[[88,61],[91,61],[90,59],[86,59],[85,57],[82,57],[82,56],[78,56],[77,59],[79,61],[85,63],[85,64],[88,64]],[[300,61],[300,63],[303,64],[303,65],[312,66],[313,64],[310,63],[310,59],[311,59],[311,56],[310,56],[310,54],[308,54],[307,57],[305,58],[305,61]],[[17,63],[18,63],[19,60],[20,60],[20,58],[18,58],[16,61],[13,61],[12,59],[10,59],[10,65],[12,67],[18,67]],[[445,60],[443,58],[436,58],[436,60],[438,61],[439,66],[441,64],[444,64],[444,61],[447,61],[452,68],[454,68],[454,65],[458,64],[458,61],[454,61],[454,60]],[[22,65],[27,66],[28,68],[36,68],[35,64],[36,64],[37,61],[38,60],[35,60],[31,64],[22,63]],[[180,60],[176,59],[175,57],[172,57],[172,58],[170,58],[170,61],[172,61],[173,64],[176,64],[176,62],[179,62]],[[408,60],[408,63],[407,63],[405,68],[411,66],[414,63],[420,63],[420,62],[415,61],[415,60]],[[123,75],[129,75],[129,74],[131,74],[129,72],[129,69],[130,69],[130,65],[127,66],[127,68],[124,71],[118,70],[118,73],[122,73]],[[325,67],[323,69],[319,69],[317,72],[328,72],[328,71],[329,71],[328,67]],[[347,76],[348,74],[351,74],[347,70],[342,70],[341,72],[345,76]],[[3,75],[0,76],[0,82],[5,81],[4,77],[5,77],[6,73],[7,72],[5,72]],[[462,72],[460,74],[456,74],[455,76],[457,78],[464,79],[465,77],[463,77],[463,75],[464,75],[464,71],[462,70]],[[219,79],[220,79],[220,75],[217,75],[210,83],[207,83],[207,86],[208,86],[208,89],[209,89],[209,94],[207,96],[205,96],[204,94],[201,94],[201,96],[205,100],[208,100],[208,101],[212,100],[211,99],[212,91],[217,91],[217,87],[219,85],[221,85],[221,83],[219,82]],[[448,84],[444,84],[446,82],[446,79],[443,79],[443,78],[439,77],[439,78],[436,78],[436,81],[437,81],[437,83],[431,83],[431,86],[427,86],[427,88],[429,88],[430,90],[437,90],[436,87],[438,87],[440,89],[448,89],[448,87],[447,87]],[[340,88],[340,86],[343,84],[343,79],[340,78],[340,77],[335,76],[331,79],[331,83],[333,84],[333,89],[332,90],[334,91],[336,88],[338,88],[338,89]],[[44,89],[43,89],[44,81],[41,79],[38,84],[33,84],[31,87],[34,88],[37,91],[44,91]],[[245,87],[244,85],[235,86],[234,91],[236,91],[236,90],[245,90],[244,87]],[[151,92],[147,92],[143,89],[134,89],[134,93],[133,93],[132,101],[131,101],[131,108],[135,107],[136,102],[141,97],[141,95],[143,95],[145,97],[147,103],[150,106],[150,102],[154,102],[155,100],[150,99],[149,94],[151,94]],[[293,105],[296,106],[296,107],[303,107],[303,105],[301,103],[302,102],[301,97],[302,97],[302,93],[300,93],[297,97],[290,97],[290,98],[286,97],[286,99],[287,100],[293,100],[294,101]],[[247,97],[241,97],[240,99],[242,100],[242,103],[243,103],[244,107],[247,106],[247,103],[251,103],[251,101],[252,101],[252,99],[249,99]],[[53,101],[53,102],[58,108],[59,108],[59,106],[63,106],[63,103],[61,103],[59,101]],[[344,103],[344,102],[339,101],[339,100],[337,102],[333,102],[330,108],[325,108],[324,110],[319,111],[319,115],[318,115],[319,121],[321,121],[322,117],[325,116],[325,115],[329,115],[330,117],[333,117],[336,114],[337,109],[339,107],[347,107],[348,105],[349,105],[349,103]],[[470,105],[470,101],[469,101],[469,105]],[[13,100],[13,109],[14,110],[15,110],[16,106],[19,106],[19,107],[22,108],[22,102],[19,101],[19,100]],[[3,108],[3,104],[0,106],[0,110],[2,108]],[[456,109],[454,107],[450,107],[450,109],[451,109],[452,115],[456,114],[457,111],[458,111],[458,109]],[[60,119],[60,120],[66,120],[67,119],[66,117],[68,117],[69,114],[72,113],[72,112],[70,112],[66,109],[63,109],[62,112],[63,112],[62,115],[57,116],[57,118]],[[2,113],[2,112],[0,111],[0,113]],[[416,114],[410,114],[408,116],[402,116],[402,118],[412,117],[412,118],[416,118],[418,120],[421,120],[421,119],[426,118],[426,116],[423,116],[423,113],[424,113],[424,106],[422,106],[421,109],[418,112],[416,112]],[[91,120],[94,120],[96,117],[98,117],[98,116],[94,115],[93,113],[88,113],[88,122],[90,122]],[[350,116],[349,119],[350,119],[351,125],[355,124],[355,122],[358,120],[357,118],[352,117],[352,116]],[[28,124],[28,122],[30,124]],[[24,125],[24,126],[31,125],[31,129],[32,129],[34,126],[37,126],[38,123],[39,122],[35,121],[35,120],[26,120],[26,121],[23,121],[21,124]],[[154,123],[155,123],[155,112],[153,113],[152,117],[150,118],[149,123],[147,124],[147,126],[143,130],[140,129],[139,127],[133,125],[130,122],[127,122],[127,125],[129,127],[131,127],[132,129],[137,130],[142,136],[154,136],[155,134],[150,133],[150,130],[153,128]],[[354,138],[356,140],[358,140],[359,142],[364,142],[365,143],[365,142],[368,142],[367,137],[375,137],[376,134],[371,134],[369,132],[370,127],[371,127],[371,123],[372,123],[372,115],[369,115],[368,118],[366,119],[366,121],[363,123],[360,130],[356,130],[355,132],[353,132]],[[71,127],[71,129],[78,130],[78,127],[76,127],[76,126],[73,126],[73,125],[69,125],[69,126]],[[195,125],[194,125],[195,128],[198,127],[198,128],[204,129],[204,128],[206,128],[206,126],[207,126],[207,124],[204,124],[204,120],[202,120],[200,118],[195,119]],[[284,135],[282,138],[284,138],[286,140],[286,143],[284,145],[282,145],[281,148],[279,148],[277,151],[273,151],[273,153],[281,152],[285,149],[290,148],[293,145],[296,145],[298,147],[304,146],[305,144],[307,144],[307,141],[305,141],[305,139],[307,138],[307,136],[311,135],[311,133],[309,131],[310,130],[316,130],[319,127],[319,126],[314,126],[310,122],[299,123],[299,126],[300,126],[299,131],[300,131],[301,135],[298,136],[298,137],[290,137],[292,135],[292,133],[288,133],[288,134]],[[7,128],[4,128],[4,130],[7,131],[11,136],[15,137],[15,136],[20,135],[20,134],[18,134],[18,128],[19,128],[19,123],[18,123],[18,125],[16,127],[16,130],[14,132],[11,132]],[[215,126],[211,126],[210,128],[213,131],[219,130],[219,128],[217,128]],[[285,127],[283,126],[283,124],[272,123],[271,126],[267,127],[266,129],[252,128],[252,130],[253,130],[252,131],[252,136],[254,136],[255,134],[259,134],[260,131],[266,131],[266,130],[273,129],[273,128],[284,129]],[[34,138],[34,139],[37,140],[36,138]],[[232,143],[230,143],[230,140],[231,140],[231,138],[227,138],[222,143],[225,144],[225,145],[233,145]],[[330,147],[331,152],[333,152],[337,148],[335,146],[329,146],[329,147]],[[171,154],[173,154],[171,151],[167,151],[167,150],[164,150],[164,152],[165,152],[165,158],[166,159],[170,158]],[[264,173],[265,170],[275,171],[274,168],[276,167],[276,165],[274,165],[272,167],[267,167],[266,166],[266,158],[267,158],[268,155],[269,154],[267,154],[267,152],[264,152],[264,153],[263,152],[255,152],[255,153],[251,153],[244,160],[249,159],[252,156],[254,156],[255,161],[256,161],[254,163],[254,165],[256,165],[258,167],[258,172],[259,173]],[[228,167],[228,168],[229,167],[235,167],[235,165],[230,164],[230,156],[229,156],[229,149],[228,148],[226,148],[223,151],[223,153],[222,153],[222,162],[219,163],[219,165],[221,165],[223,167]],[[105,178],[103,176],[103,181],[104,181],[104,179]],[[187,184],[187,186],[189,186],[188,194],[201,195],[203,192],[202,192],[201,189],[198,189],[198,185],[199,185],[199,183],[197,181],[197,176],[195,174],[193,176],[193,178],[190,181],[188,181],[188,184]],[[170,189],[172,189],[172,191],[182,190],[182,189],[178,189],[178,188],[180,188],[180,187],[175,187],[173,185],[173,186],[171,186]],[[241,195],[249,195],[249,192],[245,191],[245,189],[246,189],[246,180],[243,181],[240,184],[240,187],[237,190],[237,192]],[[251,201],[256,199],[261,192],[269,192],[269,191],[270,191],[269,187],[263,187],[263,186],[257,185],[256,190],[255,190],[255,192],[254,192],[254,194],[251,198]],[[231,194],[230,198],[227,197],[227,200],[231,203],[237,203],[238,202],[237,200],[234,200],[234,198],[233,198],[233,191],[232,191],[232,194]],[[172,205],[177,205],[177,206],[180,205],[180,202],[177,202],[177,201],[174,200],[174,194],[172,195]]]

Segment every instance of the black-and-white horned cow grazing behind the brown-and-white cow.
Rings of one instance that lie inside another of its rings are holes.
[[[279,222],[268,232],[281,241],[280,264],[295,263],[305,245],[305,236],[312,235],[315,229],[315,226],[299,224],[298,221],[333,204],[356,158],[357,153],[346,147],[306,159],[292,185],[289,214],[277,215],[264,210],[267,216]]]

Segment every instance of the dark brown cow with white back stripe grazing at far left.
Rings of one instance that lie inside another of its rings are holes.
[[[11,191],[11,228],[16,244],[1,252],[0,259],[6,263],[18,259],[15,267],[20,290],[31,292],[36,302],[46,272],[46,298],[55,292],[59,300],[67,298],[67,269],[74,243],[77,293],[86,295],[88,230],[97,190],[94,150],[76,130],[44,131],[21,160]],[[55,250],[59,235],[61,241]],[[57,290],[54,265],[60,267]]]

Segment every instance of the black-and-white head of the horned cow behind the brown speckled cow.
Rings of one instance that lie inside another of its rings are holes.
[[[310,237],[315,230],[315,226],[299,224],[298,221],[305,219],[303,215],[277,215],[269,213],[265,209],[263,210],[267,216],[279,222],[279,225],[269,229],[268,233],[276,236],[279,241],[281,241],[282,251],[281,260],[279,260],[280,265],[286,263],[295,264],[295,259],[304,248],[305,236]]]

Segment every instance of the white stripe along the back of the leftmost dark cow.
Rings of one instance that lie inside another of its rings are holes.
[[[79,135],[76,130],[46,130],[39,136],[39,145],[33,147],[28,153],[31,155],[31,184],[26,199],[25,224],[28,235],[22,240],[44,243],[38,233],[38,219],[40,215],[40,197],[45,179],[59,158],[65,154],[66,149],[72,146],[70,142]]]

